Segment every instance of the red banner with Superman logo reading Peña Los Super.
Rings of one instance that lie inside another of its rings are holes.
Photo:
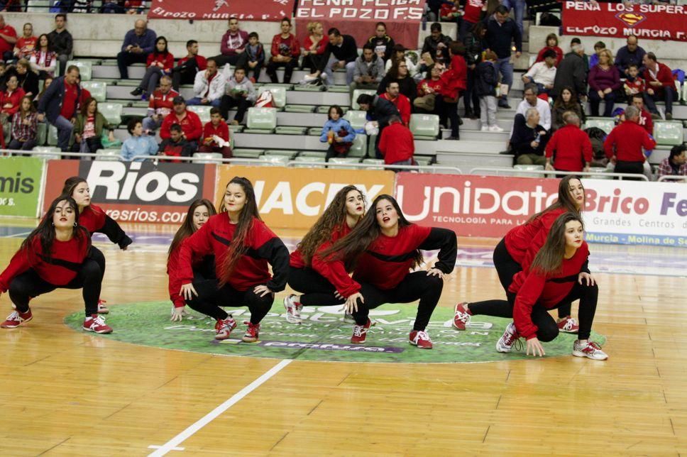
[[[687,6],[565,1],[563,34],[687,41]]]

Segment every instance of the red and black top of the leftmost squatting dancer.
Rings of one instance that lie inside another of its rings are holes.
[[[70,241],[53,241],[50,256],[43,253],[38,236],[27,249],[19,249],[4,272],[0,274],[0,292],[7,292],[12,280],[28,270],[34,270],[45,282],[55,286],[67,285],[79,273],[88,257],[91,241],[86,233]]]

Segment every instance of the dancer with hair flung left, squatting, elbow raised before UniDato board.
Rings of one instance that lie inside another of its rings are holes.
[[[439,249],[433,268],[410,272],[422,263],[423,250]],[[419,299],[410,344],[431,349],[427,324],[444,288],[444,276],[456,265],[456,233],[446,228],[410,224],[390,195],[375,198],[370,211],[348,233],[319,253],[322,258],[344,260],[360,288],[346,298],[346,310],[356,319],[351,343],[365,343],[370,309],[385,303],[410,303]]]

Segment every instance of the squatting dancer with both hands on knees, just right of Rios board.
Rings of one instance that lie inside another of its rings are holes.
[[[192,259],[212,254],[218,279],[194,280]],[[289,250],[260,219],[253,185],[245,177],[229,181],[219,214],[182,244],[179,268],[179,293],[189,307],[216,319],[215,338],[229,338],[236,328],[236,321],[216,304],[221,303],[250,309],[243,341],[258,341],[260,321],[270,311],[275,292],[285,288]]]

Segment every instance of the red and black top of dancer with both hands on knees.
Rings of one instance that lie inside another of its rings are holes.
[[[229,253],[229,244],[236,231],[226,213],[216,214],[182,243],[179,253],[179,277],[182,284],[193,281],[194,256],[215,256],[217,277],[223,277],[222,265]],[[289,270],[289,250],[263,221],[253,219],[246,237],[247,250],[236,262],[227,281],[236,290],[244,291],[256,285],[266,285],[273,292],[286,287]],[[268,263],[274,276],[270,275]]]

